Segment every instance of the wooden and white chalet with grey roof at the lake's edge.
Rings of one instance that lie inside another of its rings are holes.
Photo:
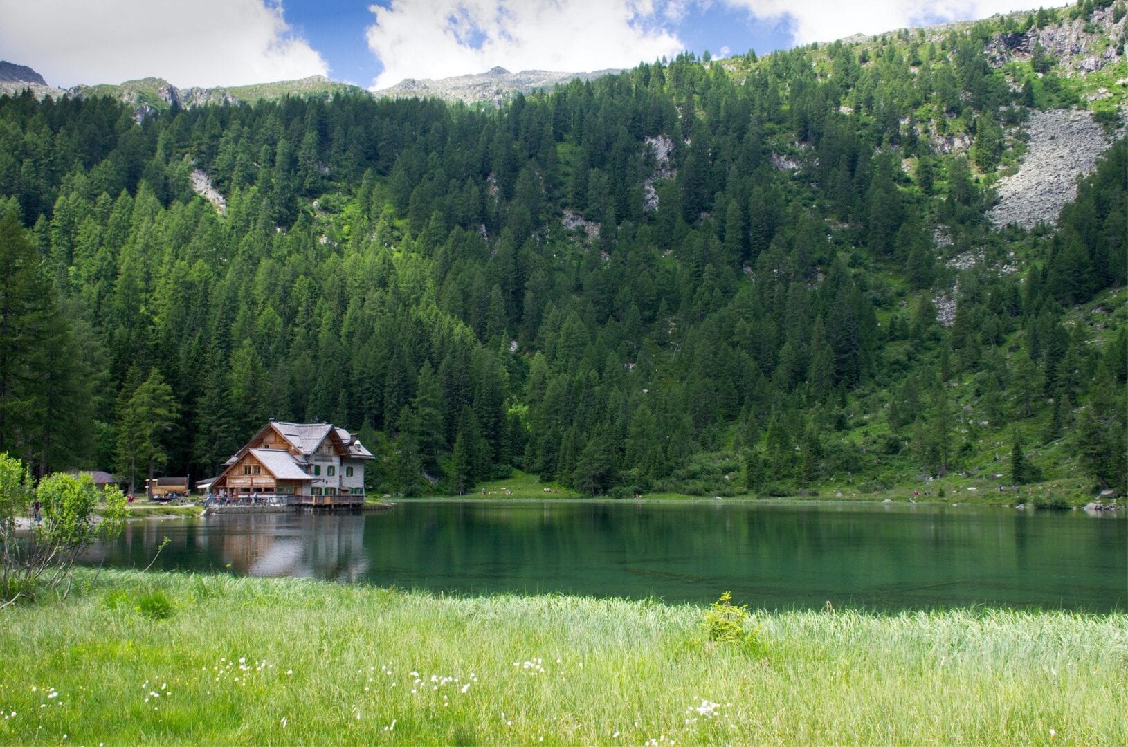
[[[361,506],[371,459],[355,435],[331,423],[271,420],[227,461],[209,492],[221,503]]]

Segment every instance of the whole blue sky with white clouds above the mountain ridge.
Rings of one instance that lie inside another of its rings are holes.
[[[0,0],[0,60],[49,83],[235,86],[628,68],[1021,10],[1034,0]],[[1056,5],[1056,3],[1050,3]]]

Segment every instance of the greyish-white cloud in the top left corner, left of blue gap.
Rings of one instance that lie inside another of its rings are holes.
[[[326,74],[271,0],[0,0],[0,50],[53,86],[235,86]]]

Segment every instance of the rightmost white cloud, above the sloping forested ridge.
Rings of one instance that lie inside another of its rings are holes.
[[[852,34],[880,34],[907,26],[1028,10],[1032,0],[723,0],[763,20],[788,20],[796,44],[830,42]],[[1051,3],[1052,5],[1052,3]]]

